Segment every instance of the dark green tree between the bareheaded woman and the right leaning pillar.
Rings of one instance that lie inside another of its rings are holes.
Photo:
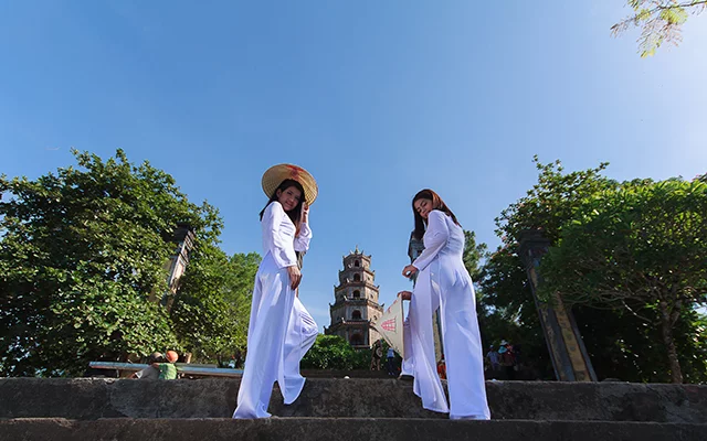
[[[541,228],[555,241],[561,227],[573,218],[581,202],[616,185],[601,175],[608,163],[564,173],[560,161],[544,164],[534,158],[538,182],[496,218],[502,245],[490,254],[481,272],[479,325],[485,346],[508,340],[523,347],[527,364],[539,377],[552,372],[525,267],[518,256],[518,237],[526,229]]]

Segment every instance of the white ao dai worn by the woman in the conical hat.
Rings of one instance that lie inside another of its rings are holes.
[[[267,406],[275,381],[285,404],[297,399],[305,378],[299,362],[317,336],[317,324],[291,288],[287,267],[296,266],[295,250],[309,248],[312,230],[302,224],[295,238],[295,225],[279,202],[263,213],[265,256],[255,275],[247,354],[233,418],[267,418]]]

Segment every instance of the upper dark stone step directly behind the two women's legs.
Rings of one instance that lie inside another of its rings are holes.
[[[238,389],[238,379],[0,378],[0,418],[229,418]],[[487,381],[486,390],[496,420],[707,422],[707,386]],[[283,405],[275,388],[270,411],[279,417],[446,418],[422,409],[412,383],[395,379],[309,378],[291,406]]]

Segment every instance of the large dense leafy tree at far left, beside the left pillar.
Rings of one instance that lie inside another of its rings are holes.
[[[0,375],[81,375],[101,356],[176,347],[147,300],[167,291],[175,226],[191,225],[199,249],[222,227],[147,161],[73,153],[78,169],[0,176]]]

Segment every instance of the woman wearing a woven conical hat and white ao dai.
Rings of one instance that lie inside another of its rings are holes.
[[[291,164],[263,174],[270,198],[261,212],[263,260],[255,275],[247,354],[233,418],[267,418],[275,381],[286,405],[294,402],[305,379],[299,361],[317,336],[317,324],[297,298],[302,280],[297,251],[309,248],[309,205],[317,197],[314,178]]]

